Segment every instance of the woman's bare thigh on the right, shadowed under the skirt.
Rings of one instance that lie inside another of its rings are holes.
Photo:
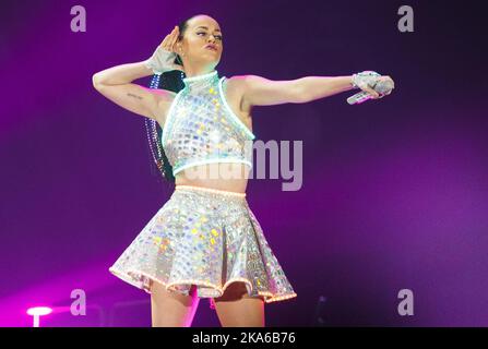
[[[230,284],[214,302],[223,327],[264,327],[264,300],[249,297],[245,282]]]

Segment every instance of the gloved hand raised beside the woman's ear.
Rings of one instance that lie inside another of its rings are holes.
[[[145,61],[145,65],[153,70],[155,74],[160,74],[171,70],[179,70],[185,72],[182,65],[175,63],[177,57],[176,44],[178,41],[179,29],[178,26],[166,35],[160,45],[156,48],[153,56]]]

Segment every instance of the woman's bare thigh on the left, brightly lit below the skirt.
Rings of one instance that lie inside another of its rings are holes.
[[[167,291],[166,287],[159,282],[153,282],[151,292],[153,327],[191,326],[200,302],[194,285],[189,296]]]

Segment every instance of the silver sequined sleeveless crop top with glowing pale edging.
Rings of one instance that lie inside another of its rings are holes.
[[[211,163],[242,163],[252,168],[254,134],[233,112],[216,70],[185,77],[169,107],[162,145],[172,174]]]

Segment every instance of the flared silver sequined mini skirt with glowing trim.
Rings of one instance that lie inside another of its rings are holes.
[[[212,309],[234,281],[266,303],[297,297],[246,194],[200,186],[176,185],[109,270],[147,293],[154,281],[186,296],[195,285]]]

